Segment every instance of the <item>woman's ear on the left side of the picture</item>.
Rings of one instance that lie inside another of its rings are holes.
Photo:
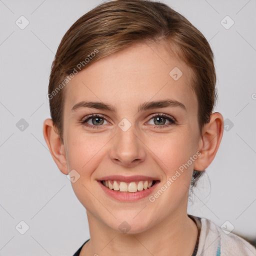
[[[43,136],[50,150],[50,154],[59,170],[63,174],[68,174],[65,148],[58,135],[56,127],[50,118],[43,122]]]

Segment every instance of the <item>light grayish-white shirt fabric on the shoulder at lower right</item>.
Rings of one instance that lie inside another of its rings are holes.
[[[196,255],[207,256],[256,256],[256,248],[242,237],[225,233],[207,218],[200,218],[201,231]]]

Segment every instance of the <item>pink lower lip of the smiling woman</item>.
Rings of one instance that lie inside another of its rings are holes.
[[[149,187],[145,190],[143,189],[143,190],[137,191],[137,192],[120,192],[119,190],[115,191],[113,189],[107,188],[100,181],[98,181],[98,183],[107,195],[110,195],[111,197],[113,197],[116,200],[119,200],[119,201],[136,201],[136,200],[142,199],[142,198],[148,196],[150,193],[152,193],[152,191],[157,186],[159,181],[157,181],[153,186],[151,186],[151,187]]]

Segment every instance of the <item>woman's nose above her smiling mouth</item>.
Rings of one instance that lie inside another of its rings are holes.
[[[126,131],[117,128],[117,134],[111,140],[110,159],[116,164],[131,168],[143,162],[145,156],[145,145],[136,134],[134,125]]]

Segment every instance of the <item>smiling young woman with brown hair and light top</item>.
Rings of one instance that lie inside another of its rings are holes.
[[[86,208],[90,239],[74,255],[256,255],[187,214],[223,133],[215,81],[207,40],[164,3],[106,2],[68,29],[43,133]]]

